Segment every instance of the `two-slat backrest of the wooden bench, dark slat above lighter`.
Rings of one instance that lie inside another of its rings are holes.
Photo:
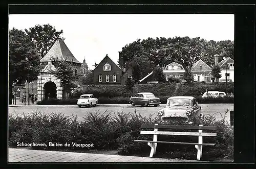
[[[185,135],[185,136],[217,136],[217,133],[203,133],[198,130],[217,130],[216,126],[172,126],[172,125],[141,125],[142,129],[187,129],[197,130],[195,132],[183,132],[183,131],[145,131],[141,130],[140,134],[152,134],[152,135]]]

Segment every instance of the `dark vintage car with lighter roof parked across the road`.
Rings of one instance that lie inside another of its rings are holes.
[[[156,98],[153,93],[149,92],[140,92],[136,94],[136,96],[130,98],[130,104],[132,104],[132,106],[142,105],[147,107],[154,105],[157,107],[160,103],[160,99]]]

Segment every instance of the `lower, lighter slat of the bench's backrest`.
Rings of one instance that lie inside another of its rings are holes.
[[[140,131],[140,134],[185,135],[185,136],[217,136],[217,133],[174,132],[174,131]]]

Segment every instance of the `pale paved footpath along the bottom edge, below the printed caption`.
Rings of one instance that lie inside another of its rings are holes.
[[[179,160],[137,156],[120,156],[108,154],[73,153],[28,149],[8,149],[8,162],[197,162],[196,160]],[[201,162],[201,161],[200,161]]]

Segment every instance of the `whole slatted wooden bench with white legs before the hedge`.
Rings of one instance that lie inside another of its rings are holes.
[[[197,149],[197,160],[202,157],[203,146],[215,146],[215,143],[203,143],[203,136],[216,137],[217,133],[206,133],[203,130],[216,130],[215,126],[169,126],[169,125],[141,125],[141,129],[154,129],[154,131],[144,131],[141,130],[140,134],[151,134],[153,135],[153,140],[135,140],[135,142],[147,142],[148,146],[151,147],[150,157],[156,153],[157,143],[170,143],[170,144],[186,144],[195,145]],[[187,129],[187,130],[197,130],[195,132],[180,132],[180,131],[158,131],[158,129]],[[182,136],[198,136],[198,142],[173,142],[173,141],[158,141],[158,135],[182,135]]]

